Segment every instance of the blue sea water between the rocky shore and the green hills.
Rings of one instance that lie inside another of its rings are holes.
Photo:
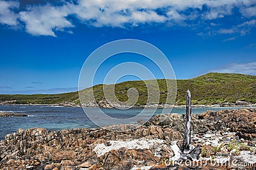
[[[225,110],[239,108],[193,108],[192,112],[204,113],[207,110]],[[111,117],[130,118],[138,115],[142,109],[102,109]],[[4,139],[6,134],[16,132],[17,129],[29,129],[33,127],[46,128],[49,130],[59,131],[62,129],[74,128],[93,128],[97,125],[93,124],[84,114],[83,108],[56,107],[56,106],[21,106],[21,105],[0,105],[0,111],[9,111],[15,113],[24,113],[28,117],[0,117],[0,140]],[[90,108],[95,111],[95,108]],[[157,109],[154,115],[162,113],[163,109]],[[183,114],[185,108],[173,108],[172,113]],[[146,114],[152,114],[154,109],[148,108]],[[170,113],[170,110],[164,111]]]

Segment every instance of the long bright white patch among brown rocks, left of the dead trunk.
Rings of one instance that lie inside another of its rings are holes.
[[[129,150],[132,149],[149,149],[149,148],[156,148],[165,147],[163,145],[164,140],[161,139],[134,139],[132,141],[108,141],[109,146],[105,146],[104,143],[97,144],[93,151],[97,154],[97,157],[104,155],[105,153],[110,152],[111,150],[119,150],[120,148],[127,148]]]

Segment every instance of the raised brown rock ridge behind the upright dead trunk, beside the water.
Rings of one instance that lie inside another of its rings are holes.
[[[195,134],[211,132],[237,132],[239,138],[256,140],[256,109],[206,111],[192,115],[192,131]],[[184,115],[156,115],[145,125],[169,127],[184,132]]]

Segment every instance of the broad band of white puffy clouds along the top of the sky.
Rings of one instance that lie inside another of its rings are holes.
[[[17,22],[19,19],[25,23],[29,34],[56,36],[56,31],[70,32],[68,29],[75,26],[72,17],[76,17],[83,24],[95,27],[134,27],[152,23],[196,25],[198,24],[196,20],[216,20],[232,15],[234,8],[238,8],[241,15],[251,21],[256,15],[255,6],[253,6],[256,3],[252,0],[77,0],[76,3],[61,2],[58,5],[34,4],[20,10],[19,13],[14,13],[13,8],[18,8],[19,3],[0,0],[0,22],[7,25],[19,25],[20,23]],[[195,23],[191,24],[193,21]],[[246,34],[250,31],[250,27],[255,26],[253,23],[251,26],[248,24],[221,29],[220,33],[233,34],[240,31],[241,34]]]

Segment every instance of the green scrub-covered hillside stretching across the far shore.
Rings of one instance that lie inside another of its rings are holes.
[[[168,82],[173,80],[168,80]],[[167,92],[166,80],[157,80],[159,91],[153,80],[147,80],[151,85],[150,96],[157,96],[160,93],[159,103],[166,103],[166,98],[175,93]],[[106,89],[115,86],[115,96],[122,102],[127,101],[127,91],[134,88],[138,91],[139,97],[137,106],[147,103],[148,90],[143,81],[125,81],[116,85],[106,85]],[[103,85],[95,85],[82,90],[83,97],[93,96],[97,102],[105,101]],[[193,104],[221,104],[235,103],[237,100],[256,103],[256,76],[228,73],[208,73],[189,80],[177,80],[177,105],[185,104],[186,90],[191,90]],[[131,91],[131,96],[136,92]],[[79,103],[77,92],[66,94],[36,94],[36,95],[0,95],[0,102],[13,101],[19,104],[58,104],[64,102]],[[90,101],[88,101],[89,103]]]

